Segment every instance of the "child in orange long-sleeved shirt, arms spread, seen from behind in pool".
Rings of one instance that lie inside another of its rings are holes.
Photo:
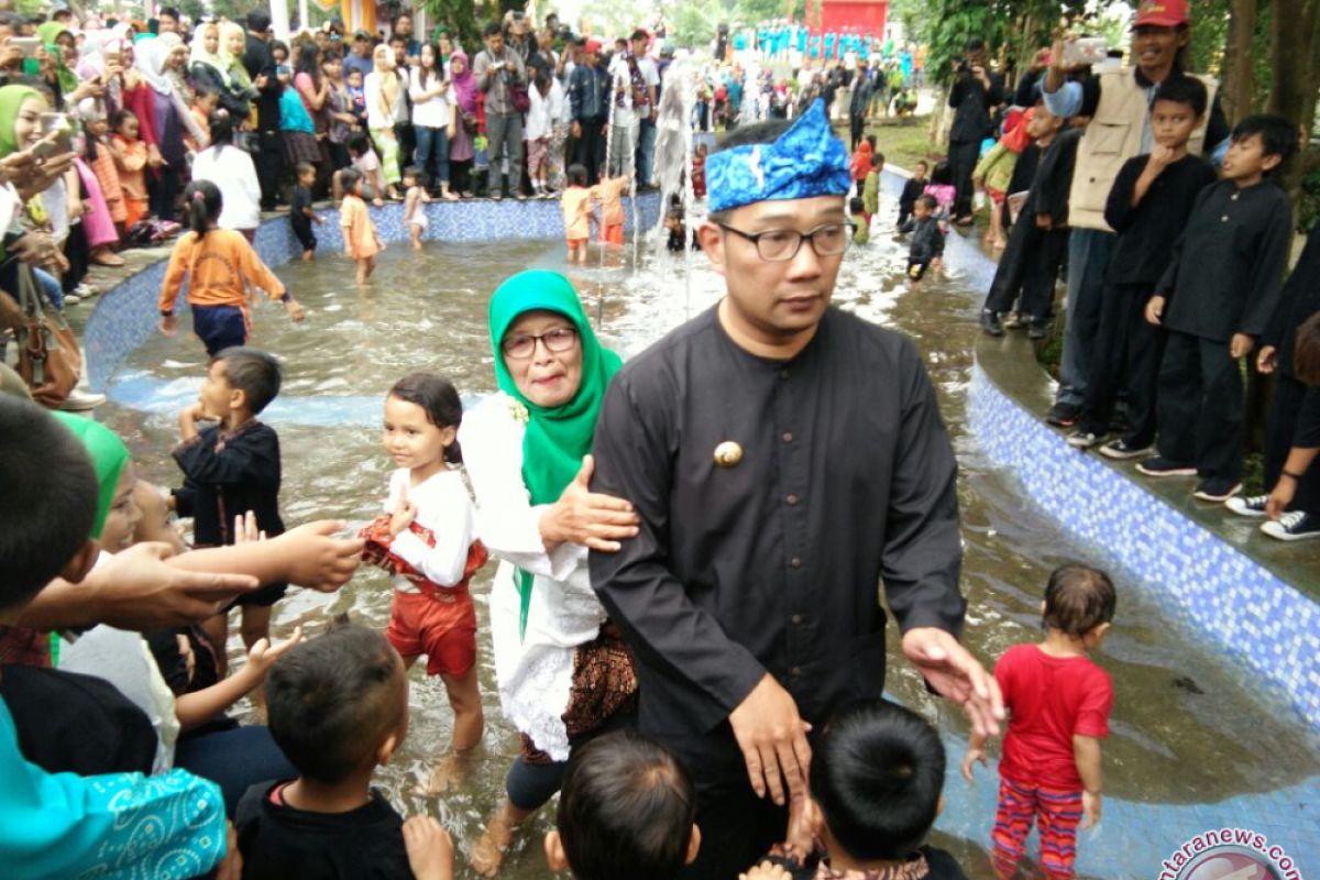
[[[252,321],[247,310],[244,282],[265,290],[284,303],[289,317],[302,321],[302,306],[265,268],[248,240],[236,230],[218,230],[220,190],[210,181],[193,181],[183,190],[193,231],[174,245],[161,285],[160,330],[173,336],[178,329],[174,303],[187,274],[187,305],[193,309],[193,332],[206,344],[206,354],[218,355],[232,346],[247,344]]]

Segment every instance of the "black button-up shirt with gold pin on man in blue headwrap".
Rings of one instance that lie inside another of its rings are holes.
[[[727,716],[767,672],[816,724],[880,694],[882,581],[904,631],[961,629],[957,466],[906,336],[830,309],[774,361],[711,309],[623,367],[595,456],[642,533],[591,554],[591,586],[636,652],[642,730],[704,778],[743,772]]]

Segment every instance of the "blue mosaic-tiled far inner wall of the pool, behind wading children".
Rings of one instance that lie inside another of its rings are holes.
[[[554,199],[519,202],[430,202],[422,206],[429,228],[424,240],[488,241],[494,239],[562,239],[564,215]],[[322,211],[326,222],[315,228],[318,249],[322,253],[342,253],[343,235],[339,230],[338,210]],[[653,227],[660,218],[660,195],[645,193],[638,197],[638,219],[643,230]],[[371,219],[384,241],[407,241],[401,204],[371,208]],[[631,199],[623,202],[623,228],[632,234]],[[257,256],[268,267],[279,267],[301,255],[301,245],[293,237],[285,216],[261,223],[253,243]],[[95,391],[104,391],[110,376],[137,346],[143,344],[158,323],[156,307],[166,260],[160,260],[107,290],[96,301],[96,309],[83,329],[83,348],[87,352],[87,379]],[[346,277],[351,277],[348,273]],[[351,281],[350,281],[351,284]],[[177,313],[185,318],[187,303],[180,296]]]

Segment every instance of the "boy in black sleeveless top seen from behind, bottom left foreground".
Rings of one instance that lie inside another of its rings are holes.
[[[265,690],[271,736],[298,778],[260,782],[239,801],[244,880],[453,877],[438,823],[405,823],[371,788],[408,731],[408,676],[384,636],[337,625],[276,661]]]

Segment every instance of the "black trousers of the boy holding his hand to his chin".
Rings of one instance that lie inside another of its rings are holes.
[[[1130,449],[1146,449],[1155,439],[1155,396],[1164,331],[1146,321],[1146,301],[1154,285],[1106,285],[1100,306],[1100,330],[1090,354],[1090,376],[1080,427],[1092,434],[1109,431],[1118,392],[1127,392]]]

